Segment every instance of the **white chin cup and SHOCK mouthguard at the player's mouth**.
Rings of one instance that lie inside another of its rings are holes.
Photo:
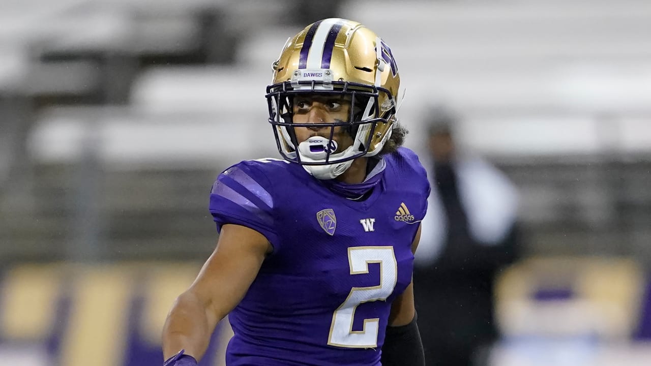
[[[327,139],[326,137],[316,136],[299,143],[298,154],[301,162],[322,163],[326,162],[328,152],[337,151],[337,142]],[[330,160],[340,160],[348,158],[353,154],[353,147],[337,154],[330,154]],[[317,179],[334,179],[341,175],[353,163],[352,160],[341,163],[332,163],[327,165],[303,165],[303,169]]]

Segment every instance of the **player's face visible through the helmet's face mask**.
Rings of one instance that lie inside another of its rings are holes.
[[[328,94],[305,94],[294,98],[294,123],[335,123],[346,122],[350,118],[350,96]],[[329,127],[296,127],[296,139],[300,143],[310,137],[330,137]],[[337,141],[340,152],[353,145],[353,138],[344,126],[335,127],[333,140]]]

